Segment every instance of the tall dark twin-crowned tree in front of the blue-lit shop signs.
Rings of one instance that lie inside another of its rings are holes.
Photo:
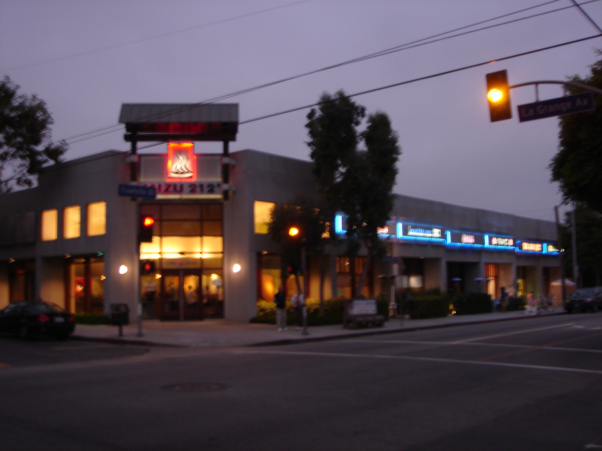
[[[401,154],[397,133],[388,115],[380,111],[368,115],[367,126],[360,132],[365,107],[342,90],[334,96],[322,94],[320,106],[307,118],[309,156],[314,161],[318,192],[326,204],[326,217],[332,221],[337,211],[347,215],[347,255],[355,257],[362,245],[367,248],[358,287],[353,287],[357,295],[371,260],[385,252],[377,229],[385,226],[393,208],[392,191]],[[365,149],[359,149],[361,142]]]

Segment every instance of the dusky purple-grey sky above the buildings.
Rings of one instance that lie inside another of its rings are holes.
[[[53,138],[60,140],[116,124],[121,103],[202,102],[542,3],[0,0],[0,73],[22,93],[38,94],[48,103]],[[569,8],[224,102],[240,103],[244,121],[315,102],[323,91],[356,93],[598,34],[571,5],[570,0],[548,2],[470,29]],[[602,2],[583,8],[602,24]],[[156,37],[161,34],[167,35]],[[519,123],[516,106],[535,101],[535,88],[523,87],[512,90],[514,117],[491,123],[485,74],[507,69],[511,84],[585,76],[588,65],[600,58],[596,48],[602,48],[600,37],[355,97],[369,112],[387,112],[399,133],[403,155],[395,191],[552,220],[560,195],[547,166],[557,150],[558,120]],[[540,87],[541,99],[561,95],[557,85]],[[256,149],[308,160],[307,112],[242,124],[231,151]],[[66,158],[128,149],[123,129],[113,130],[68,140]],[[220,146],[197,143],[196,151],[219,152]]]

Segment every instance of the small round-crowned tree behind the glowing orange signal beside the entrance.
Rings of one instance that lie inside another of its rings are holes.
[[[291,227],[299,230],[297,236],[289,235]],[[305,247],[307,253],[321,253],[325,231],[326,221],[320,209],[307,197],[298,196],[291,203],[278,204],[270,213],[268,234],[274,242],[281,244],[281,279],[287,280],[289,272],[294,274],[297,294],[301,291],[301,250]]]

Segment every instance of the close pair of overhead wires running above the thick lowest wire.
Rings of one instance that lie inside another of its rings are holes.
[[[435,43],[435,42],[438,42],[438,41],[441,41],[441,40],[446,40],[446,39],[449,39],[449,38],[458,37],[458,36],[461,36],[461,35],[470,34],[470,33],[473,33],[473,32],[482,31],[482,30],[489,29],[489,28],[494,28],[494,27],[497,27],[497,26],[507,25],[509,23],[519,22],[521,20],[532,19],[533,17],[543,16],[544,14],[555,13],[557,11],[567,10],[567,9],[575,7],[575,5],[569,5],[569,6],[566,6],[566,7],[557,8],[555,10],[544,11],[542,13],[532,14],[531,16],[520,17],[518,19],[508,20],[506,22],[501,22],[501,23],[497,23],[497,24],[494,24],[494,25],[489,25],[489,26],[485,26],[485,27],[482,27],[482,28],[473,29],[473,30],[470,30],[470,31],[464,31],[464,32],[461,32],[461,33],[458,33],[458,34],[454,34],[454,35],[450,35],[450,36],[445,36],[446,34],[451,34],[451,33],[456,32],[456,31],[461,31],[461,30],[465,30],[465,29],[468,29],[468,28],[472,28],[474,26],[482,25],[483,23],[492,22],[494,20],[503,19],[504,17],[509,17],[509,16],[512,16],[512,15],[515,15],[515,14],[523,13],[524,11],[533,10],[534,8],[539,8],[539,7],[542,7],[542,6],[545,6],[545,5],[549,5],[549,4],[555,3],[557,1],[560,1],[560,0],[550,0],[550,1],[538,4],[538,5],[534,5],[532,7],[523,8],[521,10],[514,11],[512,13],[502,14],[501,16],[496,16],[496,17],[492,17],[491,19],[481,20],[480,22],[475,22],[475,23],[472,23],[470,25],[465,25],[465,26],[462,26],[462,27],[459,27],[459,28],[452,29],[450,31],[446,31],[446,32],[435,34],[435,35],[431,35],[429,37],[422,38],[420,40],[411,41],[411,42],[408,42],[408,43],[405,43],[405,44],[400,44],[398,46],[394,46],[394,47],[391,47],[391,48],[388,48],[388,49],[384,49],[382,51],[373,52],[371,54],[364,55],[362,57],[353,58],[352,60],[343,61],[342,63],[332,64],[330,66],[322,67],[320,69],[311,70],[309,72],[301,73],[301,74],[294,75],[294,76],[289,76],[287,78],[282,78],[282,79],[279,79],[279,80],[276,80],[276,81],[272,81],[272,82],[268,82],[268,83],[265,83],[265,84],[256,85],[254,87],[246,88],[246,89],[243,89],[243,90],[234,91],[234,92],[229,93],[229,94],[222,94],[220,96],[211,97],[210,99],[205,99],[205,100],[202,100],[201,102],[197,102],[197,103],[193,103],[193,104],[185,105],[185,106],[180,106],[178,108],[173,109],[172,112],[185,111],[187,109],[194,108],[194,106],[199,105],[201,103],[213,103],[213,102],[218,102],[220,100],[229,99],[231,97],[239,96],[241,94],[250,93],[250,92],[255,91],[255,90],[259,90],[259,89],[270,87],[270,86],[273,86],[273,85],[276,85],[276,84],[280,84],[280,83],[283,83],[283,82],[291,81],[293,79],[301,78],[303,76],[308,76],[308,75],[312,75],[312,74],[315,74],[315,73],[318,73],[318,72],[323,72],[323,71],[326,71],[326,70],[335,69],[336,67],[345,66],[346,64],[357,63],[359,61],[369,60],[371,58],[376,58],[376,57],[380,57],[380,56],[383,56],[383,55],[388,55],[388,54],[391,54],[391,53],[394,53],[394,52],[399,52],[399,51],[403,51],[403,50],[415,48],[415,47],[418,47],[418,46],[422,46],[422,45],[426,45],[426,44],[430,44],[430,43]],[[595,2],[595,1],[600,1],[600,0],[589,0],[588,2],[584,2],[583,4],[592,3],[592,2]],[[149,116],[146,119],[150,119],[150,118],[152,118],[152,117]],[[70,137],[63,138],[63,139],[69,141],[69,144],[75,144],[75,143],[79,143],[80,141],[84,141],[84,140],[87,140],[87,139],[96,138],[96,137],[99,137],[99,136],[102,136],[102,135],[106,135],[108,133],[113,133],[113,132],[119,131],[119,130],[122,129],[122,127],[123,127],[122,124],[119,124],[119,123],[111,124],[110,126],[104,126],[104,127],[98,128],[98,129],[90,130],[89,132],[79,133],[77,135],[72,135]],[[93,135],[93,136],[88,137],[87,135]],[[76,140],[75,138],[81,138],[81,139]],[[75,141],[72,141],[72,140],[75,140]]]

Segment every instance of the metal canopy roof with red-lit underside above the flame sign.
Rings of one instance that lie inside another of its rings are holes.
[[[235,141],[238,103],[123,103],[126,141]]]

